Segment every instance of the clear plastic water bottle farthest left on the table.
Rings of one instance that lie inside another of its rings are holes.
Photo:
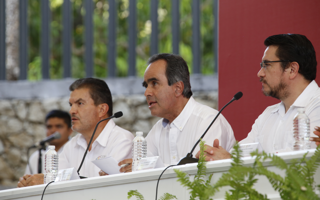
[[[54,181],[58,174],[58,153],[55,146],[49,146],[44,156],[44,184]]]

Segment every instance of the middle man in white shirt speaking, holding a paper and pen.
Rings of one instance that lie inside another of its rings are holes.
[[[189,70],[179,55],[155,54],[148,60],[144,73],[144,95],[152,116],[163,117],[148,133],[147,155],[160,156],[164,164],[178,164],[211,124],[218,111],[196,102],[192,98]],[[235,137],[227,120],[220,115],[203,140],[213,144],[219,139],[223,148],[230,150]],[[197,145],[195,152],[199,150]],[[132,159],[118,165],[132,163]],[[131,164],[120,172],[131,172]]]

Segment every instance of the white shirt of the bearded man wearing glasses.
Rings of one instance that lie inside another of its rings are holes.
[[[260,142],[267,153],[293,151],[293,118],[298,113],[297,108],[305,108],[310,118],[311,137],[317,137],[313,131],[320,125],[320,88],[312,81],[292,106],[285,112],[284,103],[269,106],[256,119],[248,137],[239,144]],[[316,142],[311,142],[311,148],[316,148]]]

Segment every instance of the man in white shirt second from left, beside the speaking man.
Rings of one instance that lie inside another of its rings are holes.
[[[103,80],[80,78],[70,85],[69,90],[72,130],[81,134],[73,137],[59,154],[59,170],[79,168],[96,124],[113,115],[111,93]],[[118,161],[130,158],[133,138],[131,132],[117,126],[112,119],[101,122],[79,175],[88,178],[99,176],[100,169],[92,160],[109,156]],[[39,177],[35,185],[43,184],[43,178]]]

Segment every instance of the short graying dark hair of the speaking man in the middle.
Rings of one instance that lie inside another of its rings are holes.
[[[166,61],[165,76],[168,79],[168,85],[172,85],[181,81],[183,83],[182,95],[186,98],[192,96],[191,84],[190,84],[190,73],[187,62],[183,60],[180,55],[171,53],[160,53],[151,56],[148,60],[148,65],[156,62],[157,60]]]

